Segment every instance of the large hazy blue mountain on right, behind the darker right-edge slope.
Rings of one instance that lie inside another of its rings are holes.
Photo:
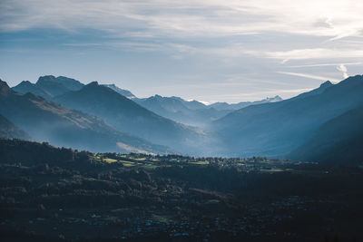
[[[284,157],[309,140],[320,125],[363,104],[363,76],[357,75],[281,102],[233,111],[213,128],[228,155]]]

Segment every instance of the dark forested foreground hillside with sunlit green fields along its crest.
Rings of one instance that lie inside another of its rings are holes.
[[[0,139],[2,241],[362,241],[362,189],[357,167]]]

